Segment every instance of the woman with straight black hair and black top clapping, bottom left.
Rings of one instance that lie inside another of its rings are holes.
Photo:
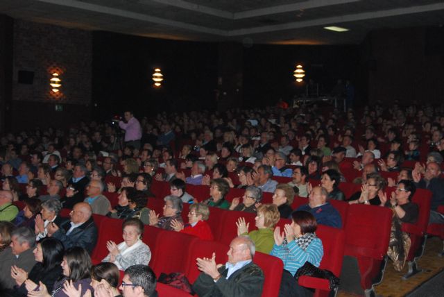
[[[49,291],[53,290],[55,282],[63,272],[60,266],[65,254],[63,244],[55,238],[44,238],[36,244],[33,253],[37,263],[29,273],[17,266],[12,266],[11,275],[17,287],[12,289],[8,296],[26,297],[28,289],[26,289],[25,280],[34,282],[36,286],[42,282]]]

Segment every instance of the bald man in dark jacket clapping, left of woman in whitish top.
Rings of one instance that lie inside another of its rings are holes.
[[[60,239],[65,248],[80,246],[91,254],[97,242],[97,227],[92,219],[91,206],[85,202],[77,203],[69,215],[71,223],[60,227],[49,223],[48,236]]]

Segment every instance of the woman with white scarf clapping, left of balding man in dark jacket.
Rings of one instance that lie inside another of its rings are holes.
[[[46,200],[41,206],[41,214],[37,214],[35,217],[35,234],[37,235],[37,240],[46,237],[49,223],[54,223],[60,227],[69,221],[67,218],[60,217],[59,212],[62,210],[62,203],[57,199]]]

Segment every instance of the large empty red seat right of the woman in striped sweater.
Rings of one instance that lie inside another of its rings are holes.
[[[361,287],[373,291],[373,280],[381,273],[391,232],[389,208],[352,204],[345,224],[345,255],[355,257],[361,275]]]

